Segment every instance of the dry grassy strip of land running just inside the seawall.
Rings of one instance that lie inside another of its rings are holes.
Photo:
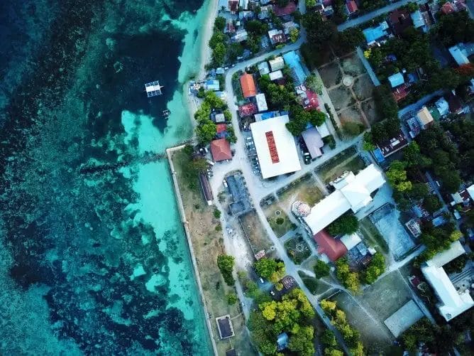
[[[217,267],[217,256],[226,252],[222,232],[216,231],[215,228],[219,221],[213,215],[214,207],[209,207],[204,203],[199,189],[190,189],[189,185],[182,180],[182,172],[187,159],[183,151],[175,151],[172,155],[184,204],[184,212],[187,217],[189,232],[191,233],[192,247],[197,259],[197,269],[202,282],[204,299],[206,307],[211,314],[209,318],[211,319],[214,340],[216,341],[219,355],[225,355],[226,350],[230,348],[230,342],[229,340],[219,339],[215,318],[226,314],[235,316],[240,312],[236,305],[227,305],[226,293],[234,291],[234,288],[224,283],[224,279],[222,279]],[[238,320],[241,321],[239,322]],[[233,342],[241,340],[235,343],[238,352],[242,352],[243,355],[255,355],[255,352],[249,346],[248,333],[242,317],[237,318],[233,322],[233,328],[236,333]]]

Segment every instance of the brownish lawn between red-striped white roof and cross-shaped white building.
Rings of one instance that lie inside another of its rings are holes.
[[[324,198],[311,174],[295,180],[290,185],[287,185],[287,187],[280,189],[277,194],[280,198],[280,205],[286,210],[291,209],[291,205],[295,200],[301,200],[308,203],[309,206],[313,206]]]

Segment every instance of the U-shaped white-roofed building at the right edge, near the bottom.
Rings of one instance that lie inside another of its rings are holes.
[[[421,267],[426,281],[431,284],[431,287],[436,292],[436,296],[439,298],[438,310],[446,321],[456,318],[456,316],[474,306],[469,289],[456,291],[446,271],[443,269],[444,264],[464,253],[465,250],[461,242],[456,241],[451,244],[449,249],[436,254],[435,257],[426,261],[425,266]]]

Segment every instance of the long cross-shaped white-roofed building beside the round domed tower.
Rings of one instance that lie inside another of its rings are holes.
[[[319,201],[303,220],[313,234],[320,232],[348,210],[358,212],[372,202],[370,196],[385,183],[385,178],[373,164],[360,171],[356,176],[345,172],[331,185],[336,190]]]

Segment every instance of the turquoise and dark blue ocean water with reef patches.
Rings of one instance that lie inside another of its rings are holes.
[[[1,355],[211,354],[161,155],[208,7],[0,1]]]

